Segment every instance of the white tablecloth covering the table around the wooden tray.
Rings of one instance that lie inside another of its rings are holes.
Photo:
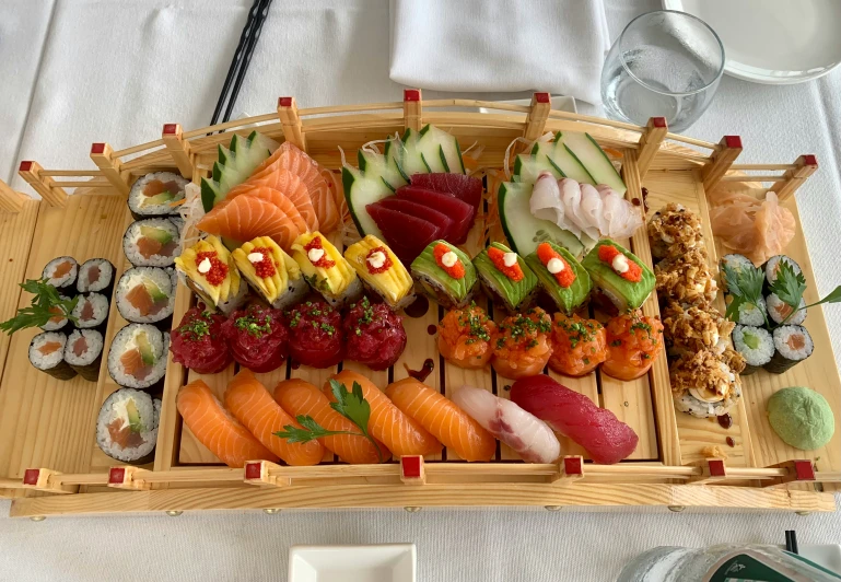
[[[17,162],[93,167],[93,141],[115,148],[160,137],[161,125],[207,125],[250,0],[0,0],[0,177],[25,189]],[[656,0],[607,2],[611,37]],[[388,79],[388,0],[278,0],[238,113],[270,112],[279,95],[302,106],[397,101]],[[841,71],[794,86],[725,78],[688,135],[739,133],[745,162],[816,153],[819,173],[798,193],[821,293],[841,282]],[[424,96],[441,93],[427,91]],[[472,96],[472,95],[460,95]],[[482,98],[515,95],[481,94]],[[516,95],[527,96],[527,95]],[[592,112],[586,112],[592,113]],[[741,161],[741,160],[740,160]],[[841,354],[841,309],[826,310]],[[8,503],[0,502],[0,514]],[[284,580],[293,544],[413,542],[421,580],[610,580],[656,545],[840,543],[841,515],[402,511],[0,517],[0,580]]]

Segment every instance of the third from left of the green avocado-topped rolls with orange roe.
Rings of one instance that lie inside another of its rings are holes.
[[[540,243],[526,263],[559,311],[570,315],[587,301],[593,281],[587,269],[564,247],[549,241]]]

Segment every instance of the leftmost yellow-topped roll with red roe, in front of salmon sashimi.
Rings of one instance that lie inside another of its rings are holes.
[[[222,241],[208,236],[182,251],[175,267],[185,283],[205,303],[229,315],[245,301],[248,286],[243,282],[234,259]]]

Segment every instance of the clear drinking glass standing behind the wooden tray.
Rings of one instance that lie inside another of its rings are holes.
[[[723,70],[724,47],[705,22],[673,10],[641,14],[605,60],[605,112],[641,126],[665,117],[670,130],[682,131],[710,105]]]

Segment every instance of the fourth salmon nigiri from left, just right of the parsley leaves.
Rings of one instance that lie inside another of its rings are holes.
[[[369,431],[374,438],[383,441],[395,456],[432,455],[441,452],[441,443],[420,422],[402,414],[383,391],[365,376],[343,370],[330,376],[330,380],[344,384],[348,392],[353,389],[354,382],[362,386],[362,395],[371,405]],[[322,392],[330,400],[335,400],[329,380],[325,382]]]

